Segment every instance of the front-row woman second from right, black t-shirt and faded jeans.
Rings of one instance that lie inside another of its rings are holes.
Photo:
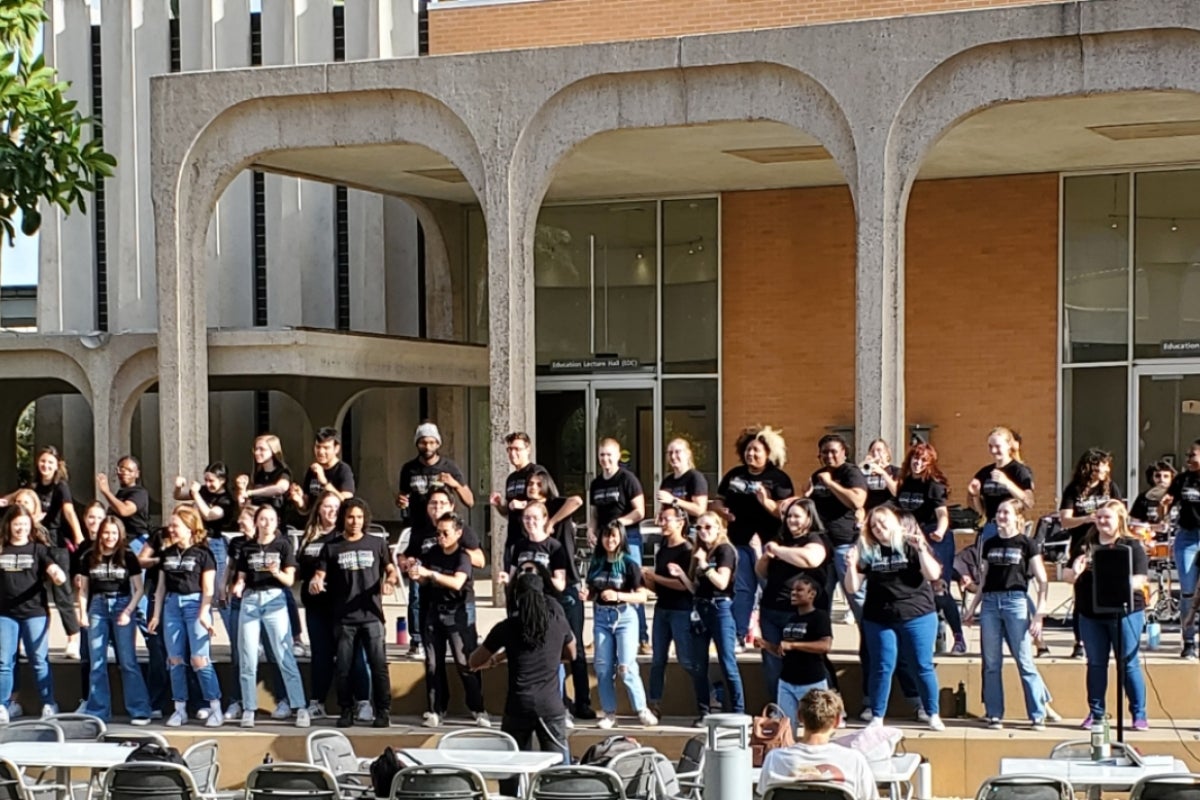
[[[1037,545],[1025,535],[1025,518],[1016,500],[1004,500],[996,510],[998,531],[980,548],[980,590],[967,609],[970,624],[979,618],[983,640],[983,700],[988,727],[1000,730],[1004,718],[1003,645],[1016,662],[1025,687],[1025,711],[1034,730],[1045,728],[1046,687],[1033,663],[1031,640],[1042,630],[1046,600],[1046,569]],[[1038,584],[1037,601],[1030,613],[1028,576]]]

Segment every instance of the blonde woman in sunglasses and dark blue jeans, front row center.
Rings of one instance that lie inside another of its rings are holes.
[[[716,661],[725,676],[724,706],[726,711],[745,714],[742,673],[738,670],[737,628],[733,621],[733,576],[738,569],[738,551],[725,534],[725,521],[708,511],[696,519],[696,547],[691,564],[683,569],[667,565],[672,578],[678,578],[692,596],[691,651],[696,654],[692,684],[700,717],[712,706],[712,686],[708,681],[708,648],[716,645]],[[701,666],[703,664],[703,666]],[[697,724],[701,722],[697,720]]]

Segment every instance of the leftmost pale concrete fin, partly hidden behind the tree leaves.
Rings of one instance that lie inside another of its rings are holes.
[[[66,96],[91,116],[91,10],[88,0],[54,0],[42,40],[46,62],[68,82]],[[89,209],[91,198],[89,198]],[[95,237],[86,213],[42,204],[37,327],[43,332],[96,327]]]

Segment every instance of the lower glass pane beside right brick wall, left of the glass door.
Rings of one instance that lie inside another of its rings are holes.
[[[1126,367],[1087,367],[1062,373],[1062,485],[1070,482],[1075,462],[1088,447],[1112,453],[1112,477],[1126,494],[1129,476]]]

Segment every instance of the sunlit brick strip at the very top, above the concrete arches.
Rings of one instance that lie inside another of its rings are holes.
[[[1058,0],[539,0],[433,6],[430,52],[473,53],[786,28]]]

